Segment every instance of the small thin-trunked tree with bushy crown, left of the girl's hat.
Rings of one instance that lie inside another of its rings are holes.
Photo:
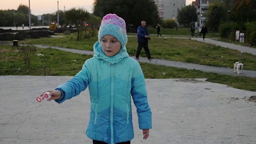
[[[65,18],[72,22],[73,24],[76,24],[76,28],[78,30],[77,39],[79,40],[79,33],[81,32],[83,21],[88,20],[89,18],[89,12],[87,10],[84,10],[82,8],[71,8],[70,10],[67,10],[65,12]]]

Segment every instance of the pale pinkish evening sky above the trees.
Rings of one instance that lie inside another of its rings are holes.
[[[92,4],[94,0],[0,0],[0,10],[14,9],[17,10],[20,4],[29,5],[31,14],[42,15],[53,13],[58,10],[69,10],[70,8],[85,8],[88,12],[92,12]],[[186,0],[186,5],[189,5],[195,0]]]

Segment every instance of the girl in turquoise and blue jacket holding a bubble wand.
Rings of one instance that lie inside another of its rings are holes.
[[[144,75],[140,64],[126,52],[126,43],[124,20],[107,14],[101,22],[93,58],[86,60],[70,81],[46,91],[51,94],[48,101],[62,103],[89,87],[91,111],[86,135],[93,144],[130,144],[134,138],[130,96],[143,139],[152,128]]]

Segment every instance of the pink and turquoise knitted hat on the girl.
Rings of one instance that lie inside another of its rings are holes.
[[[125,22],[116,14],[107,14],[103,17],[98,35],[99,42],[103,36],[111,35],[121,43],[122,47],[127,43]]]

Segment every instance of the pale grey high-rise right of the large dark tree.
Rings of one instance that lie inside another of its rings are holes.
[[[177,22],[178,9],[186,6],[186,0],[155,0],[159,17],[173,19]]]

